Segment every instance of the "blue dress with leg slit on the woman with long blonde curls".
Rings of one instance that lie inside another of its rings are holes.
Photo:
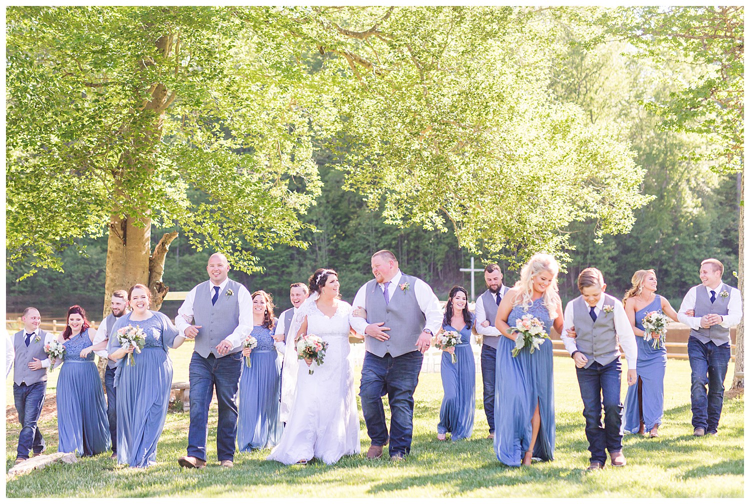
[[[514,306],[508,325],[529,313],[544,324],[547,334],[553,321],[542,299],[536,299],[528,311]],[[555,447],[555,408],[552,380],[552,341],[546,340],[533,354],[528,349],[511,355],[515,342],[505,336],[497,344],[495,368],[495,440],[497,459],[507,466],[520,466],[523,453],[531,444],[531,419],[539,405],[541,423],[532,457],[553,460]]]

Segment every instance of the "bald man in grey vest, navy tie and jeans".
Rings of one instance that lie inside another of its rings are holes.
[[[177,311],[175,326],[195,339],[190,359],[190,430],[187,456],[180,466],[205,467],[208,406],[216,388],[219,425],[216,449],[219,465],[234,466],[237,437],[237,388],[242,373],[242,340],[253,330],[253,302],[244,285],[229,280],[223,254],[208,259],[208,281],[193,287]],[[192,323],[192,324],[191,324]]]

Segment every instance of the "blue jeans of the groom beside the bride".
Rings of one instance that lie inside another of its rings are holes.
[[[414,390],[422,369],[422,353],[415,350],[403,356],[392,357],[386,353],[378,357],[365,352],[362,364],[362,383],[359,397],[362,398],[362,414],[368,426],[368,436],[374,446],[386,446],[389,431],[386,427],[386,412],[383,410],[384,395],[388,394],[391,408],[391,434],[389,454],[409,455],[412,446]]]

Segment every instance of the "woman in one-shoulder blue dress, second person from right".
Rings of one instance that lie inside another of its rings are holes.
[[[625,293],[625,314],[633,326],[638,345],[636,372],[638,379],[628,387],[625,395],[623,430],[629,434],[658,436],[658,426],[664,416],[664,371],[667,369],[667,349],[654,349],[643,339],[643,317],[660,311],[676,322],[676,311],[666,298],[656,294],[656,274],[652,269],[634,273],[632,287]]]

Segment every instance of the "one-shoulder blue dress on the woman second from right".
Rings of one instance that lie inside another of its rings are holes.
[[[645,307],[635,312],[635,326],[643,331],[643,318],[652,311],[661,312],[661,297],[654,296],[654,300]],[[638,336],[635,337],[638,344],[638,360],[635,371],[643,385],[641,395],[643,398],[643,425],[646,432],[661,425],[664,416],[664,372],[667,370],[667,349],[654,350],[650,341]],[[628,386],[625,395],[625,419],[623,430],[630,434],[640,431],[640,407],[638,404],[638,380]]]

